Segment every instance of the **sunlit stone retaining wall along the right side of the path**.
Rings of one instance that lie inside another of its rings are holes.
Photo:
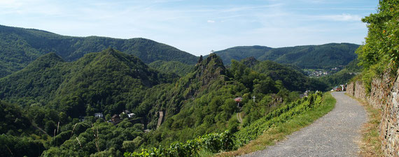
[[[398,69],[399,73],[399,69]],[[354,87],[354,88],[353,88]],[[362,82],[348,84],[349,94],[366,100],[375,108],[381,108],[379,126],[382,149],[385,156],[399,156],[399,77],[387,74],[375,78],[371,84],[370,96],[366,95]]]

